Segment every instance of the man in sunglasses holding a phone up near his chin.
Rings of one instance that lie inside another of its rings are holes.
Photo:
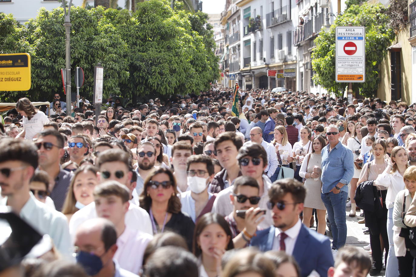
[[[259,190],[258,182],[253,177],[240,176],[234,181],[233,193],[230,194],[233,212],[225,220],[233,233],[235,248],[248,245],[257,232],[257,226],[264,220],[266,211],[259,207]]]

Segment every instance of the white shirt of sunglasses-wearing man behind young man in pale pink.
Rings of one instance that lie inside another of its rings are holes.
[[[97,218],[95,202],[89,203],[87,206],[72,215],[71,220],[69,220],[69,233],[71,234],[71,237],[75,237],[78,226],[82,222],[91,218]],[[129,210],[126,212],[124,222],[126,227],[153,235],[152,223],[150,221],[149,214],[146,210],[134,205],[131,201]]]

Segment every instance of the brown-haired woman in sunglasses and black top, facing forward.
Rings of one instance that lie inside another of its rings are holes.
[[[190,216],[181,212],[181,200],[177,196],[176,180],[170,170],[158,167],[144,180],[139,197],[140,207],[146,210],[152,222],[153,234],[173,231],[181,235],[192,249],[195,224]]]

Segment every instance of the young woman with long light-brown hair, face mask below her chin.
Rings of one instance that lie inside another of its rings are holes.
[[[68,218],[68,222],[75,212],[94,201],[92,192],[98,184],[97,171],[97,167],[84,165],[74,172],[62,207],[62,213]]]

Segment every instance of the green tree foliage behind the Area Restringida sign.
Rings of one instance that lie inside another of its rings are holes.
[[[328,31],[319,33],[312,53],[312,68],[316,72],[313,79],[329,92],[344,92],[347,83],[335,82],[335,27],[348,26],[348,23],[365,26],[366,30],[366,81],[353,83],[353,90],[364,96],[374,95],[380,82],[379,66],[395,36],[389,27],[386,8],[381,3],[351,5],[337,17]]]

